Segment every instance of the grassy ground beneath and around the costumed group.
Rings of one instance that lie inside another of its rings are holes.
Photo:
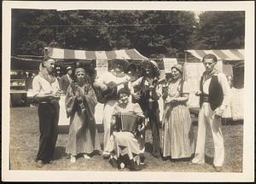
[[[195,135],[197,125],[194,124]],[[225,158],[223,172],[242,171],[242,138],[243,125],[233,122],[224,122]],[[101,142],[103,133],[99,127]],[[165,172],[214,172],[212,167],[213,143],[210,129],[207,129],[206,164],[189,164],[189,160],[162,160],[151,156],[151,132],[146,131],[146,164],[143,171]],[[61,131],[55,147],[55,158],[51,164],[38,169],[34,159],[38,152],[39,129],[37,107],[15,107],[10,109],[10,170],[91,170],[91,171],[117,171],[103,159],[96,155],[90,160],[79,158],[75,164],[65,154],[67,133]],[[128,171],[128,170],[127,170]]]

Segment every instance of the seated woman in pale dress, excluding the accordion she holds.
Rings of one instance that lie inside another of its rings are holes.
[[[119,101],[113,108],[113,115],[119,112],[130,112],[140,117],[141,121],[138,121],[138,127],[133,133],[130,131],[122,131],[114,129],[117,127],[116,121],[112,118],[112,134],[109,144],[112,144],[113,151],[110,154],[110,163],[118,169],[124,169],[125,167],[130,170],[142,170],[144,167],[144,129],[145,118],[143,110],[138,104],[128,101],[130,91],[128,89],[119,89],[118,97]],[[109,147],[109,145],[108,145]]]

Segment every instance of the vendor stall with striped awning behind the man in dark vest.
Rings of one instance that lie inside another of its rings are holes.
[[[216,67],[232,79],[232,99],[224,118],[243,119],[244,49],[185,50],[184,79],[190,89],[188,106],[191,112],[199,110],[199,97],[195,96],[195,90],[199,89],[199,81],[205,70],[201,59],[207,54],[216,55]]]

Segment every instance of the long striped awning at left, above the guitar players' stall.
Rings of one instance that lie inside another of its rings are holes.
[[[88,51],[88,50],[73,50],[73,49],[57,49],[48,48],[49,57],[59,60],[146,60],[147,58],[141,55],[137,49],[120,49],[111,51]]]

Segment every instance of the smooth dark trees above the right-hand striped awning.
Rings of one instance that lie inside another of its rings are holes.
[[[209,11],[199,18],[198,49],[244,48],[244,11]]]

